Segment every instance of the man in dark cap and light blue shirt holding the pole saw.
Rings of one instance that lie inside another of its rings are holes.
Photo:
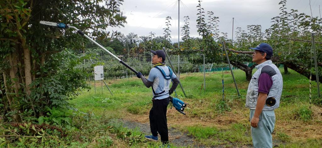
[[[157,141],[159,133],[162,145],[169,147],[166,108],[170,102],[170,95],[178,86],[179,80],[171,68],[166,66],[166,53],[163,50],[151,50],[151,53],[154,54],[152,57],[153,68],[150,70],[149,78],[146,79],[141,72],[137,73],[137,78],[141,78],[147,88],[152,86],[153,92],[152,108],[149,114],[152,135],[145,137],[151,141]],[[173,84],[169,89],[171,80]]]

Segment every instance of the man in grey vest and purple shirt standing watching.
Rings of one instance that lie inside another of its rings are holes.
[[[261,43],[254,49],[252,61],[258,69],[251,78],[246,95],[246,107],[250,109],[251,136],[255,148],[272,148],[272,132],[275,112],[282,95],[283,78],[270,60],[273,49]]]

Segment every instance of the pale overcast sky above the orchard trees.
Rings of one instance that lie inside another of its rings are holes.
[[[219,31],[227,32],[228,38],[231,38],[232,18],[234,33],[237,27],[247,30],[247,25],[261,25],[264,32],[272,24],[270,19],[279,15],[279,2],[280,0],[203,0],[201,6],[204,12],[213,11],[214,16],[219,17]],[[197,5],[198,0],[180,0],[180,27],[184,24],[184,16],[189,16],[192,37],[198,37]],[[322,0],[311,0],[313,16],[320,16],[319,6],[322,11]],[[290,9],[297,9],[298,13],[311,15],[309,0],[288,0],[286,7],[288,12]],[[127,24],[124,28],[116,29],[125,35],[133,32],[138,36],[148,36],[152,31],[156,36],[163,36],[165,18],[171,16],[171,37],[173,42],[177,42],[178,0],[125,0],[121,11],[127,17]]]

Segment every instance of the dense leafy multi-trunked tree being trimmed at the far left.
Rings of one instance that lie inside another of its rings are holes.
[[[86,39],[39,21],[63,22],[104,39],[118,33],[106,28],[126,22],[121,5],[122,0],[1,0],[0,120],[33,121],[87,87],[87,73],[75,68],[82,59],[66,50],[84,48]]]

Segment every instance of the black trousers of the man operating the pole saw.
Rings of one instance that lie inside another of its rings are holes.
[[[153,136],[161,136],[161,142],[167,144],[169,141],[168,125],[166,123],[166,108],[170,102],[170,98],[152,100],[152,108],[150,110],[150,128]]]

